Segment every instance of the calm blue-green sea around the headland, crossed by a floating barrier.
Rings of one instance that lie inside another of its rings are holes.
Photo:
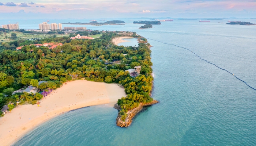
[[[127,24],[86,27],[136,31],[191,49],[256,88],[256,26],[218,23],[227,20],[174,20],[139,30],[141,25],[132,24],[135,19],[123,20]],[[20,20],[20,27],[27,28],[22,21],[35,20]],[[256,23],[255,19],[241,21]],[[37,28],[38,24],[30,26]],[[112,107],[68,112],[37,127],[15,146],[256,145],[256,91],[188,50],[148,41],[154,46],[153,98],[159,104],[146,108],[128,128],[115,125],[117,110]]]

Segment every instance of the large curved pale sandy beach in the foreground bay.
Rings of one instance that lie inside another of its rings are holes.
[[[39,124],[70,110],[90,105],[114,105],[126,96],[117,84],[76,80],[63,84],[37,105],[20,105],[0,118],[0,145],[12,145]]]

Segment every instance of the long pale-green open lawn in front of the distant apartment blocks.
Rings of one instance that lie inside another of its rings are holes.
[[[22,32],[18,32],[18,31],[11,31],[11,32],[8,32],[6,33],[7,35],[7,39],[5,39],[5,35],[4,33],[2,33],[0,35],[0,42],[11,42],[13,41],[12,39],[10,39],[11,37],[11,34],[12,33],[15,33],[17,35],[17,39],[16,40],[19,40],[19,39],[42,39],[42,38],[48,38],[48,37],[51,37],[53,36],[53,34],[27,34],[27,33],[22,33]],[[61,35],[61,34],[56,34],[57,37],[63,37],[63,36],[69,36],[69,35]],[[3,41],[2,41],[3,40]]]

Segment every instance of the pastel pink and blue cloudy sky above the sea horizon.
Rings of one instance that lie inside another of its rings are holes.
[[[256,0],[1,0],[0,19],[256,18]]]

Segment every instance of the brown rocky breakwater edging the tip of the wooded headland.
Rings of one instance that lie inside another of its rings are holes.
[[[157,100],[153,100],[150,103],[140,103],[140,105],[136,108],[133,108],[132,110],[128,111],[127,113],[127,117],[125,118],[125,121],[121,120],[121,115],[118,113],[117,118],[116,118],[116,125],[120,126],[120,127],[128,127],[131,125],[132,123],[132,118],[138,114],[143,107],[149,106],[149,105],[153,105],[158,103]],[[114,108],[116,108],[117,110],[121,110],[121,107],[117,104],[114,105]]]

